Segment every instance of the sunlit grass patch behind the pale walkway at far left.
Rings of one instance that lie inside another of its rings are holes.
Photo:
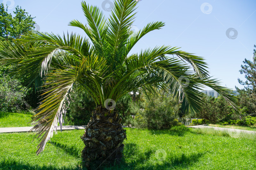
[[[0,127],[26,127],[33,126],[28,122],[31,121],[30,113],[10,113],[0,112]]]

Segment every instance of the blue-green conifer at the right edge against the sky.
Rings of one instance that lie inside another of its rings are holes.
[[[256,45],[254,47],[256,48]],[[241,65],[240,73],[245,74],[247,80],[243,82],[238,78],[238,82],[244,85],[245,88],[239,89],[236,87],[236,90],[240,93],[238,96],[240,105],[247,107],[247,113],[250,116],[256,116],[256,50],[253,51],[253,60],[245,59],[243,61],[245,65]]]

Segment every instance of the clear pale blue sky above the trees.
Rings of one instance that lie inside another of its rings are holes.
[[[68,26],[73,19],[86,23],[81,0],[3,2],[13,6],[9,12],[19,5],[35,16],[40,31],[54,34],[73,31],[85,36],[82,30]],[[86,2],[104,9],[108,16],[113,0]],[[103,2],[107,2],[104,8]],[[222,86],[242,88],[237,78],[245,78],[239,70],[245,58],[252,58],[253,45],[256,44],[255,6],[255,0],[142,0],[138,4],[134,30],[142,29],[151,21],[163,21],[166,26],[143,37],[132,52],[161,45],[181,47],[183,51],[204,57],[210,75],[219,78]],[[233,31],[226,33],[228,29]]]

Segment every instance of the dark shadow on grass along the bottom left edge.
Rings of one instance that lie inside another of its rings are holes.
[[[21,170],[21,169],[26,169],[26,170],[82,170],[82,168],[80,168],[80,167],[76,167],[76,168],[69,168],[69,167],[56,168],[56,167],[53,167],[52,165],[50,165],[50,166],[30,165],[28,163],[25,164],[25,163],[15,161],[15,160],[2,160],[0,162],[0,169],[12,169],[12,170]]]

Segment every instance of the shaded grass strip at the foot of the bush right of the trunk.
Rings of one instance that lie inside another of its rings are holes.
[[[161,135],[169,134],[172,136],[184,136],[186,133],[190,132],[190,129],[184,125],[174,126],[169,130],[149,130],[151,134]]]

